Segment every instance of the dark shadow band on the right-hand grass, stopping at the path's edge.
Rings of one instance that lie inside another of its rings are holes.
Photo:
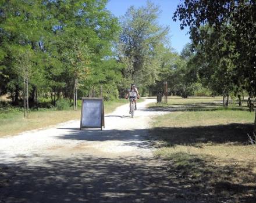
[[[154,128],[151,136],[164,140],[170,145],[198,146],[208,144],[237,144],[247,145],[247,133],[253,131],[253,124],[227,124],[212,126],[193,126],[186,128]]]

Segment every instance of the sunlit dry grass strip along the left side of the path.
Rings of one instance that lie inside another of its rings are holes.
[[[141,102],[143,99],[141,100]],[[126,104],[127,100],[120,99],[104,102],[105,114],[112,112],[116,107]],[[21,108],[0,109],[0,137],[6,135],[16,135],[23,131],[38,128],[45,128],[56,125],[60,122],[72,119],[80,119],[81,108],[78,110],[57,111],[53,109],[33,110],[29,113],[29,118],[23,118]]]

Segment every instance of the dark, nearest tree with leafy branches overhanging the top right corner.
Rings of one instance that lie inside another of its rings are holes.
[[[195,45],[204,38],[200,27],[208,24],[216,33],[227,39],[228,46],[234,46],[232,63],[234,71],[241,80],[234,82],[242,85],[248,92],[256,95],[256,2],[254,0],[185,0],[177,6],[173,20],[181,21],[180,28],[190,27]],[[254,132],[256,132],[255,112]]]

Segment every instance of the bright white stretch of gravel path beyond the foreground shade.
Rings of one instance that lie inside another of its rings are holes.
[[[38,158],[44,156],[66,158],[81,153],[105,158],[137,155],[152,157],[147,129],[151,117],[162,113],[148,111],[145,106],[151,102],[155,102],[155,99],[138,103],[138,110],[133,119],[129,115],[128,104],[116,108],[113,113],[105,115],[106,127],[103,131],[80,130],[80,120],[74,120],[51,128],[1,138],[0,161],[23,161],[24,157],[34,155],[37,162]]]

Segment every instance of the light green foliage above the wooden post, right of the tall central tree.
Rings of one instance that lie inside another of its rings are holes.
[[[181,55],[165,48],[161,60],[162,65],[158,75],[157,85],[151,88],[151,94],[156,95],[163,92],[163,81],[168,82],[169,94],[180,95],[186,98],[193,95],[196,89],[195,83],[198,82],[198,75],[193,63],[194,54],[187,44]]]

